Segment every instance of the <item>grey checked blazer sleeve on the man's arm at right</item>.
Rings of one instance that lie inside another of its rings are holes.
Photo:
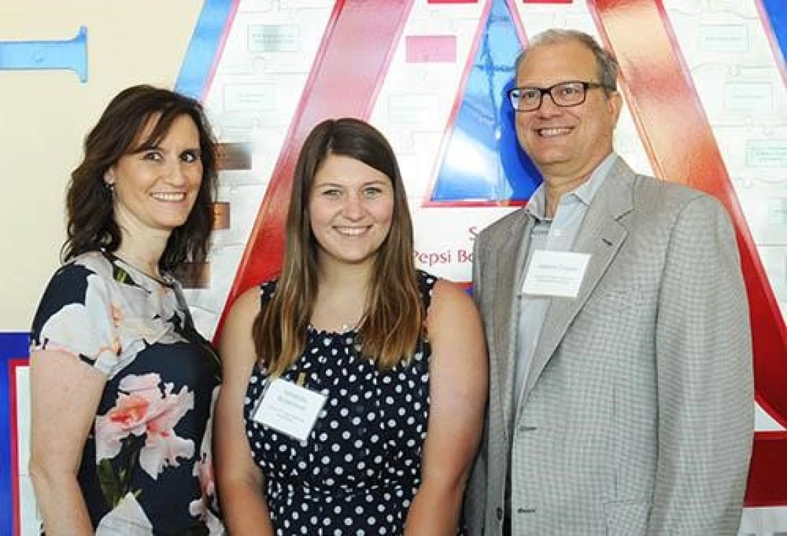
[[[754,433],[752,341],[733,227],[710,196],[689,201],[671,231],[656,374],[648,534],[737,534]]]

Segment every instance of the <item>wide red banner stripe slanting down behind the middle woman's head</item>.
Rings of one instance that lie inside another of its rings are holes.
[[[216,327],[216,340],[235,298],[275,276],[281,268],[292,174],[303,141],[323,119],[368,119],[412,3],[413,0],[336,2],[227,296]]]

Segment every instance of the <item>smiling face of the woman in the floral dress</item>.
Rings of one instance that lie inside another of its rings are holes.
[[[179,116],[153,147],[145,141],[157,117],[142,129],[137,149],[124,154],[104,176],[114,186],[114,218],[124,238],[168,237],[186,222],[202,182],[199,131]],[[142,144],[140,146],[140,144]]]

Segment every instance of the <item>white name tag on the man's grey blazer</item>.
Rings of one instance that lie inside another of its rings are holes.
[[[590,255],[586,253],[538,249],[530,259],[522,292],[535,296],[576,298],[589,261]]]

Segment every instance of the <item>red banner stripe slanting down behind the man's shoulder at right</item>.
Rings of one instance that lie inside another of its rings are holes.
[[[730,211],[751,307],[757,402],[787,426],[787,329],[667,13],[660,0],[593,0],[588,6],[619,61],[623,91],[656,175],[711,193]],[[787,454],[787,442],[778,448]],[[751,479],[747,505],[758,505],[754,497],[777,484],[779,504],[787,504],[784,483],[773,471]]]

